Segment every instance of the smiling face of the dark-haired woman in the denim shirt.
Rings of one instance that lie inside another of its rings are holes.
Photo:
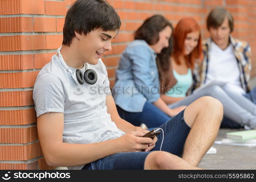
[[[159,40],[157,43],[150,45],[150,47],[157,53],[159,54],[163,48],[169,46],[169,39],[172,34],[172,29],[169,26],[166,26],[162,31],[158,33],[159,35]]]

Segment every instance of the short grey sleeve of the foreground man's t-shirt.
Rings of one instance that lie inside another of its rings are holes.
[[[57,76],[44,73],[38,76],[33,90],[37,117],[48,112],[64,113],[65,92]]]

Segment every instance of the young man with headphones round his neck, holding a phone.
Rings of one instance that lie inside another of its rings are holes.
[[[148,131],[119,117],[109,89],[101,57],[120,26],[104,0],[77,0],[68,10],[62,47],[39,72],[33,91],[46,162],[87,170],[199,169],[217,136],[222,104],[203,97],[168,120],[160,126],[159,151],[163,132],[142,137]]]

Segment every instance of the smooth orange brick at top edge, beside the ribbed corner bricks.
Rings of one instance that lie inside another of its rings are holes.
[[[46,15],[66,15],[65,2],[60,1],[45,1]]]

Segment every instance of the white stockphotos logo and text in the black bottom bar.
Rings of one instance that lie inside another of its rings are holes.
[[[41,172],[41,173],[26,173],[26,172],[18,172],[18,173],[14,173],[13,176],[11,177],[10,175],[11,172],[7,172],[6,174],[4,174],[4,176],[2,177],[2,179],[4,180],[9,180],[9,179],[27,179],[27,178],[30,178],[30,179],[54,179],[54,178],[57,178],[57,179],[68,179],[70,178],[70,173],[59,173],[58,171],[56,172],[52,172],[52,173],[49,173],[49,172]]]

